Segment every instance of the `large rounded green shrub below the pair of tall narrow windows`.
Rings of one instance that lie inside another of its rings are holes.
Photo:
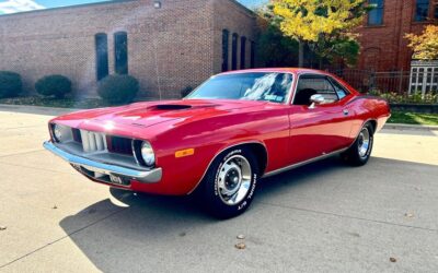
[[[110,104],[126,104],[137,96],[139,84],[131,75],[108,75],[99,83],[97,94]]]

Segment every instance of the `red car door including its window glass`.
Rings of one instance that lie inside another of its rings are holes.
[[[334,82],[324,74],[299,76],[290,107],[290,164],[349,145],[353,126],[347,108],[349,94],[337,82],[335,87]],[[325,102],[311,105],[312,94],[324,96]]]

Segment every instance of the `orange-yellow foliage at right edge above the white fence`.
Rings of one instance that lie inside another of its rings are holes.
[[[410,33],[405,35],[405,38],[410,40],[408,47],[414,51],[414,59],[438,59],[438,25],[427,25],[422,34]]]

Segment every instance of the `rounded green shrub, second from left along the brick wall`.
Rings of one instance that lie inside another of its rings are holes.
[[[35,83],[35,90],[43,96],[64,98],[71,92],[71,81],[64,75],[46,75]]]

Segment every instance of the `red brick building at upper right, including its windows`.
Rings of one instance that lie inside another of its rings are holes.
[[[437,0],[369,0],[377,4],[359,28],[361,52],[358,68],[374,71],[400,71],[411,67],[412,51],[406,33],[420,33],[425,25],[437,23]]]

